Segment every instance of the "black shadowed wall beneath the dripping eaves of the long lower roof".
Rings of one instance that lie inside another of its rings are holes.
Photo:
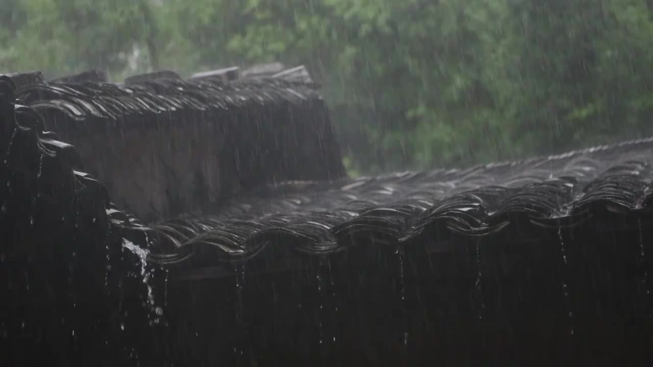
[[[187,365],[648,364],[653,223],[594,214],[611,226],[427,232],[399,250],[361,235],[324,257],[267,247],[221,266],[232,277],[173,271],[176,353]]]

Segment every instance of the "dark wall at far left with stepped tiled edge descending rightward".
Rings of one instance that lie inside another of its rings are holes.
[[[106,190],[73,172],[72,146],[33,110],[14,106],[7,79],[0,112],[3,365],[165,366],[164,321],[150,325],[140,259],[106,214]]]

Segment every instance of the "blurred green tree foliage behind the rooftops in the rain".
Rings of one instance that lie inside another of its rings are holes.
[[[323,85],[353,171],[653,135],[653,0],[4,0],[0,71],[281,61]]]

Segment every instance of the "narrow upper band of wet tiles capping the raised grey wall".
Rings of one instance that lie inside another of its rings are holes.
[[[57,110],[74,120],[92,116],[116,121],[118,125],[131,114],[226,112],[230,108],[247,108],[252,104],[303,103],[319,99],[315,89],[286,80],[283,76],[235,80],[226,84],[221,78],[182,80],[167,74],[125,85],[69,80],[74,80],[74,77],[48,84],[28,84],[20,88],[16,96],[20,103],[41,112]],[[125,124],[125,127],[129,125]]]

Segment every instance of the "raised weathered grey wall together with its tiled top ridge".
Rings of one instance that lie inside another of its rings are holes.
[[[205,211],[261,183],[345,176],[327,106],[298,74],[308,75],[303,67],[235,80],[155,72],[110,84],[86,72],[16,95],[76,147],[76,169],[151,220]]]

